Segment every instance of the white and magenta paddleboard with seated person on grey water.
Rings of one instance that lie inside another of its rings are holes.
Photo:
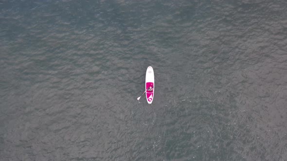
[[[151,87],[151,89],[148,89]],[[147,67],[145,73],[145,96],[148,104],[151,104],[153,101],[154,91],[155,91],[155,78],[153,68],[151,66]]]

